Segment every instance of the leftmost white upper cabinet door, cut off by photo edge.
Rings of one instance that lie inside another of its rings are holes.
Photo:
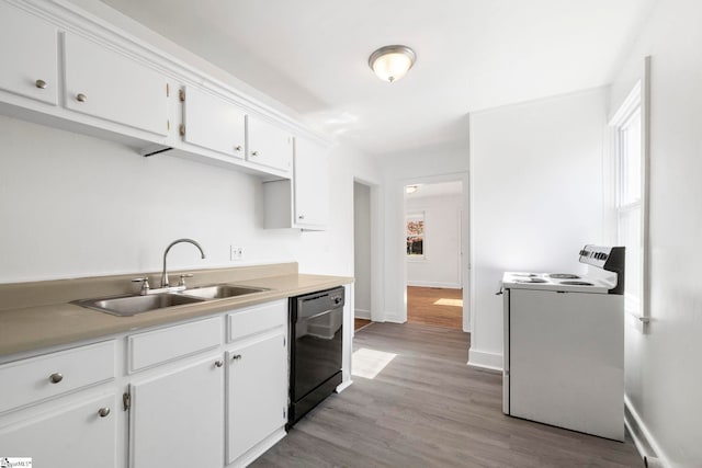
[[[0,2],[0,89],[56,105],[56,27]]]

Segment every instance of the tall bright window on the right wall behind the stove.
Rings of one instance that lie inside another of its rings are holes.
[[[643,293],[642,107],[638,87],[613,121],[618,242],[626,247],[624,308],[641,316]]]

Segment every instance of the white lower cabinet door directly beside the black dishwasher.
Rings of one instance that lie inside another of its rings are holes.
[[[285,336],[227,353],[227,464],[282,427],[287,409]]]

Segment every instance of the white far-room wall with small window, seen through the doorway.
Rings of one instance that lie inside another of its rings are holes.
[[[424,258],[407,258],[408,286],[462,287],[462,204],[461,194],[405,199],[406,213],[424,214]]]

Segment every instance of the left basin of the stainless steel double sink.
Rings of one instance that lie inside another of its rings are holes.
[[[183,296],[180,294],[162,293],[150,294],[148,296],[118,296],[98,299],[76,300],[77,304],[89,309],[99,310],[101,312],[112,313],[114,316],[135,316],[137,313],[148,312],[166,307],[182,306],[184,304],[202,303],[204,298]]]

